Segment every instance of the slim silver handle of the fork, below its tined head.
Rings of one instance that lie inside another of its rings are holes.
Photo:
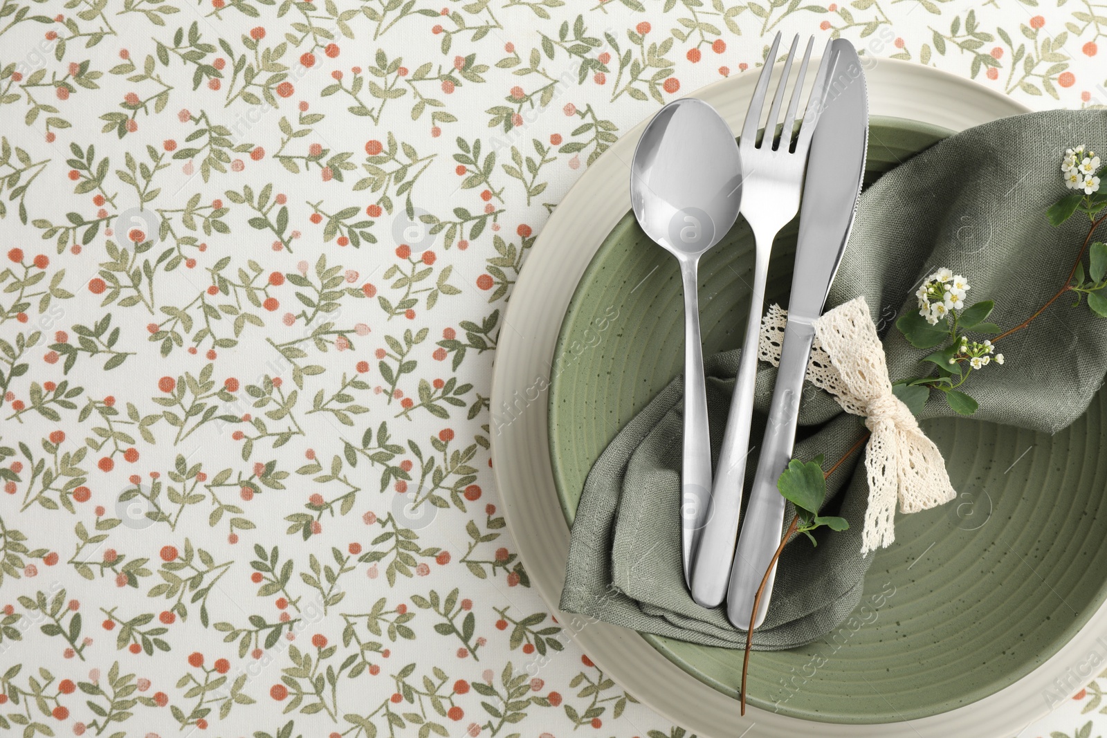
[[[734,383],[723,446],[711,489],[711,509],[704,522],[692,564],[692,599],[703,607],[715,607],[726,596],[731,578],[731,561],[738,536],[742,509],[742,484],[749,456],[749,424],[754,412],[754,384],[757,378],[757,341],[761,336],[762,304],[765,301],[765,279],[772,248],[758,238],[754,262],[754,287],[749,301],[746,336],[738,360],[738,376]]]

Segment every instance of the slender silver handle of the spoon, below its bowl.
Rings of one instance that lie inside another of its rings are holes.
[[[700,344],[696,258],[681,259],[684,282],[684,439],[681,472],[681,553],[691,586],[692,552],[711,500],[711,435]]]

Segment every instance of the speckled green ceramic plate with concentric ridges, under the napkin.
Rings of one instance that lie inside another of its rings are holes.
[[[873,118],[867,179],[945,135]],[[784,305],[795,237],[793,224],[769,268],[767,299]],[[701,263],[706,355],[741,345],[752,269],[753,239],[739,220]],[[612,305],[618,318],[597,341],[593,323]],[[675,260],[628,212],[581,279],[554,354],[550,455],[569,522],[592,462],[682,372],[682,310]],[[1054,436],[975,420],[924,424],[960,498],[898,517],[896,543],[877,553],[861,605],[839,628],[803,648],[755,653],[749,701],[819,721],[909,720],[991,695],[1056,653],[1107,596],[1105,410],[1100,393]],[[741,651],[643,637],[737,695]]]

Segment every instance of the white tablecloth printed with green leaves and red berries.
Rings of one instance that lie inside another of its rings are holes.
[[[2,0],[2,735],[685,736],[497,509],[542,222],[777,30],[1107,103],[1090,0],[443,1]]]

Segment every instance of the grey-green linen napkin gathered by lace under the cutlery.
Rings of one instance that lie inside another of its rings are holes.
[[[1107,148],[1107,111],[1049,111],[995,121],[946,138],[900,164],[860,198],[857,219],[828,309],[863,294],[881,339],[892,381],[924,375],[889,314],[917,310],[914,290],[939,267],[964,274],[970,302],[995,301],[990,318],[1002,328],[1025,320],[1065,283],[1087,233],[1083,217],[1059,228],[1046,209],[1066,194],[1064,150],[1077,144]],[[1107,371],[1107,323],[1085,306],[1058,301],[1027,329],[1005,340],[999,371],[974,373],[966,388],[980,403],[965,423],[1000,423],[1055,433],[1084,413]],[[705,362],[712,458],[726,425],[738,352]],[[768,409],[776,370],[757,376],[754,445]],[[937,393],[934,393],[937,395]],[[614,437],[584,484],[569,545],[560,607],[643,633],[704,645],[744,647],[723,607],[696,605],[681,567],[680,468],[682,378],[665,387]],[[958,417],[941,397],[920,416]],[[826,468],[865,433],[820,389],[805,385],[795,457],[826,455]],[[925,429],[927,424],[922,424]],[[844,532],[816,533],[818,547],[789,543],[780,558],[773,600],[754,648],[809,643],[858,605],[873,554],[860,554],[868,505],[862,454],[828,480],[825,514],[849,520]],[[752,459],[753,461],[753,459]],[[746,493],[756,469],[746,471]],[[963,480],[953,479],[954,488]],[[792,505],[785,514],[790,521]],[[893,544],[894,545],[894,544]]]

